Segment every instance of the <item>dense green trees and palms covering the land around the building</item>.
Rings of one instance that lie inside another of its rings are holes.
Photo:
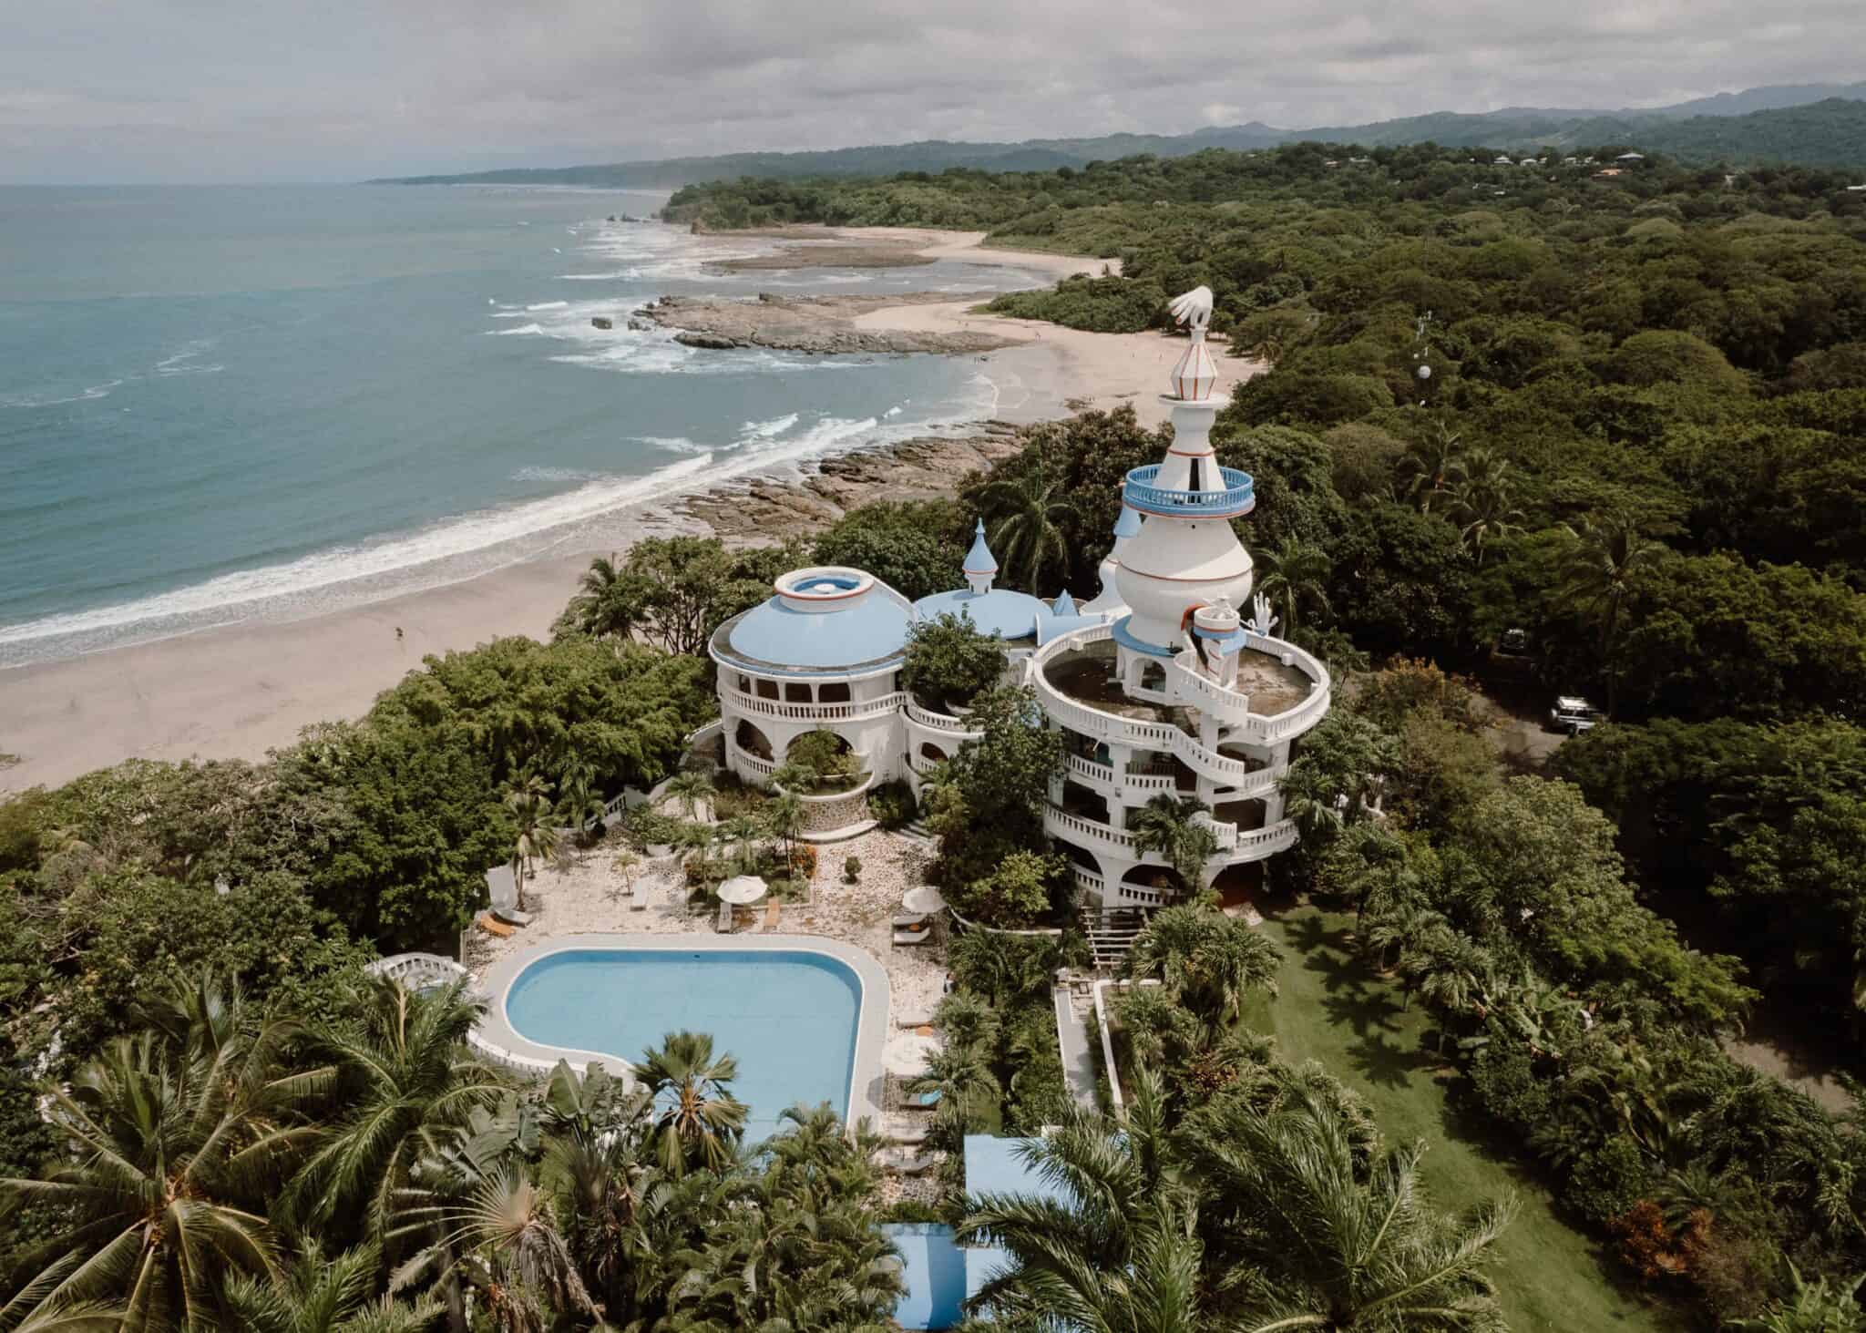
[[[1640,1301],[1702,1327],[1860,1318],[1866,1105],[1722,1040],[1775,1010],[1844,1053],[1866,1023],[1866,194],[1478,157],[1293,146],[679,200],[1120,258],[1006,308],[1149,329],[1209,284],[1267,364],[1213,442],[1256,478],[1239,534],[1280,633],[1353,689],[1284,780],[1302,842],[1271,863],[1265,926],[1187,902],[1136,945],[1121,1131],[1077,1118],[1047,1027],[1075,939],[954,941],[939,1131],[1064,1124],[1041,1152],[1082,1186],[1056,1212],[948,1199],[1021,1260],[987,1298],[1008,1320],[1121,1320],[1136,1292],[1174,1318],[1135,1327],[1429,1327],[1405,1292],[1455,1314],[1439,1327],[1644,1322]],[[0,1327],[271,1327],[317,1301],[409,1327],[883,1320],[864,1137],[797,1109],[739,1152],[731,1053],[703,1034],[644,1055],[638,1098],[562,1068],[519,1088],[461,1045],[465,995],[362,965],[452,952],[489,866],[593,838],[612,797],[672,777],[715,711],[713,631],[776,573],[946,590],[983,519],[1015,538],[1010,579],[1084,596],[1123,474],[1168,442],[1088,413],[812,543],[648,540],[592,566],[552,642],[431,657],[265,762],[129,762],[0,803]],[[907,687],[982,732],[926,792],[937,883],[968,920],[1060,928],[1064,754],[983,646],[935,622],[911,650]],[[1554,691],[1607,719],[1545,765],[1498,762],[1485,695]],[[774,758],[791,792],[862,777],[812,736]],[[797,870],[795,801],[670,797],[685,818],[636,810],[627,836],[681,846],[696,883]],[[1166,797],[1135,835],[1192,868],[1198,816]],[[1377,1273],[1342,1277],[1349,1253]]]

